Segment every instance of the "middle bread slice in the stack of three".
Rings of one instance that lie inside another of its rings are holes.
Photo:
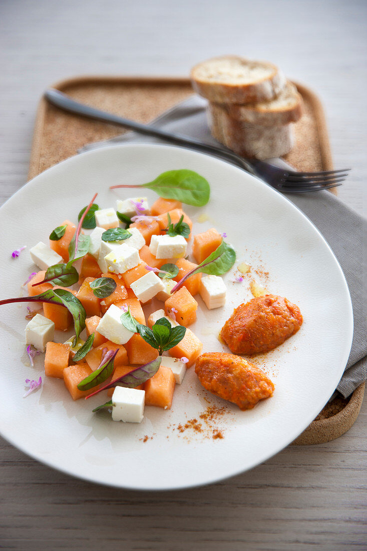
[[[244,105],[223,104],[228,114],[254,125],[279,126],[296,122],[302,116],[303,100],[294,84],[287,81],[277,98]]]

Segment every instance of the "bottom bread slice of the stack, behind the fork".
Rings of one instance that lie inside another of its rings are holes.
[[[292,125],[263,126],[239,121],[218,104],[208,105],[209,127],[213,137],[235,153],[249,159],[272,159],[293,147]]]

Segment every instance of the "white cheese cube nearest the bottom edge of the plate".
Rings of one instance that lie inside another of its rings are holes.
[[[112,419],[141,423],[144,417],[145,390],[116,386],[112,394]]]

